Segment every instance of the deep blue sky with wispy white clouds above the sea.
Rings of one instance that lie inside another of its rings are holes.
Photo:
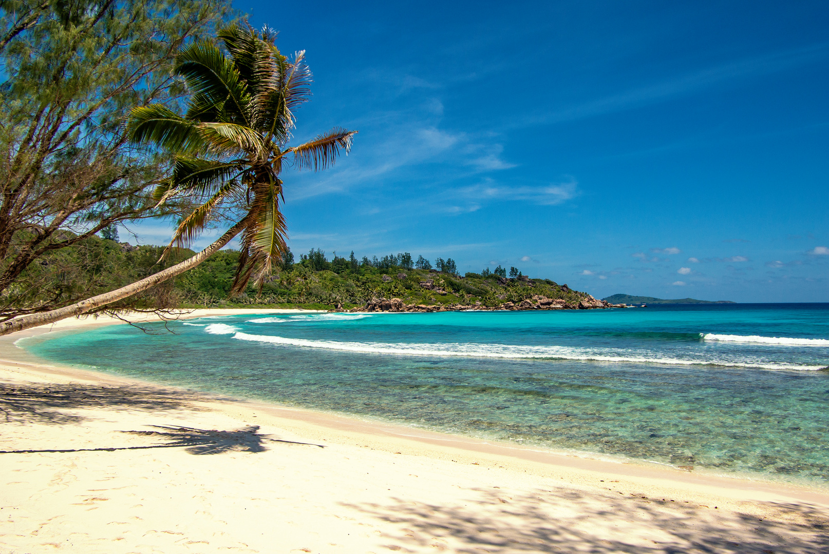
[[[827,2],[236,6],[307,51],[297,140],[359,130],[332,169],[284,172],[294,253],[829,301]]]

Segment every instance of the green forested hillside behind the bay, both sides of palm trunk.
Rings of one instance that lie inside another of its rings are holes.
[[[158,264],[163,248],[133,247],[108,238],[91,237],[75,248],[66,248],[32,267],[27,282],[36,287],[17,290],[17,296],[4,295],[4,301],[36,304],[39,296],[64,296],[67,299],[90,296],[111,290],[158,272],[192,251],[177,248],[172,257]],[[308,309],[362,309],[374,301],[400,299],[406,305],[430,306],[434,309],[458,309],[462,306],[530,308],[533,297],[555,299],[556,307],[579,307],[592,302],[584,292],[570,290],[549,279],[530,279],[510,268],[485,268],[480,273],[458,274],[451,259],[438,258],[434,264],[409,253],[381,258],[357,259],[334,255],[331,259],[320,249],[294,259],[285,253],[284,261],[264,282],[262,290],[247,287],[239,296],[230,297],[240,253],[221,250],[200,266],[175,280],[147,291],[139,307],[303,307]],[[521,302],[524,306],[520,306]],[[513,306],[510,306],[511,302]],[[553,306],[553,305],[550,305]],[[591,306],[599,307],[599,306]],[[378,308],[381,309],[381,308]]]

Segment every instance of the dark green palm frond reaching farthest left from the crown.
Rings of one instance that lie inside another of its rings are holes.
[[[130,110],[127,136],[132,142],[153,142],[172,152],[196,152],[204,146],[193,123],[161,104]]]

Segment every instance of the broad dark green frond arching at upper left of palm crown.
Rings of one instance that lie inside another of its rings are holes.
[[[184,48],[176,58],[176,73],[206,104],[222,106],[225,117],[250,124],[250,94],[235,65],[212,42],[198,41]]]

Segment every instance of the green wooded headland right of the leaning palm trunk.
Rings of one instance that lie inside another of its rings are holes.
[[[399,257],[394,256],[379,261],[363,258],[362,262],[357,262],[356,258],[337,257],[328,261],[324,253],[313,250],[303,255],[298,263],[286,263],[274,272],[264,283],[260,295],[253,287],[248,287],[244,295],[229,299],[238,258],[238,252],[223,250],[178,277],[175,288],[182,295],[182,306],[298,306],[347,310],[361,308],[374,300],[399,298],[410,306],[494,308],[511,302],[517,308],[522,301],[537,305],[533,301],[536,296],[560,300],[561,307],[577,308],[580,301],[592,300],[584,292],[573,291],[567,285],[549,279],[506,278],[494,273],[472,272],[460,276],[451,271],[416,269],[411,263],[401,265],[400,259],[395,263],[394,258]]]

